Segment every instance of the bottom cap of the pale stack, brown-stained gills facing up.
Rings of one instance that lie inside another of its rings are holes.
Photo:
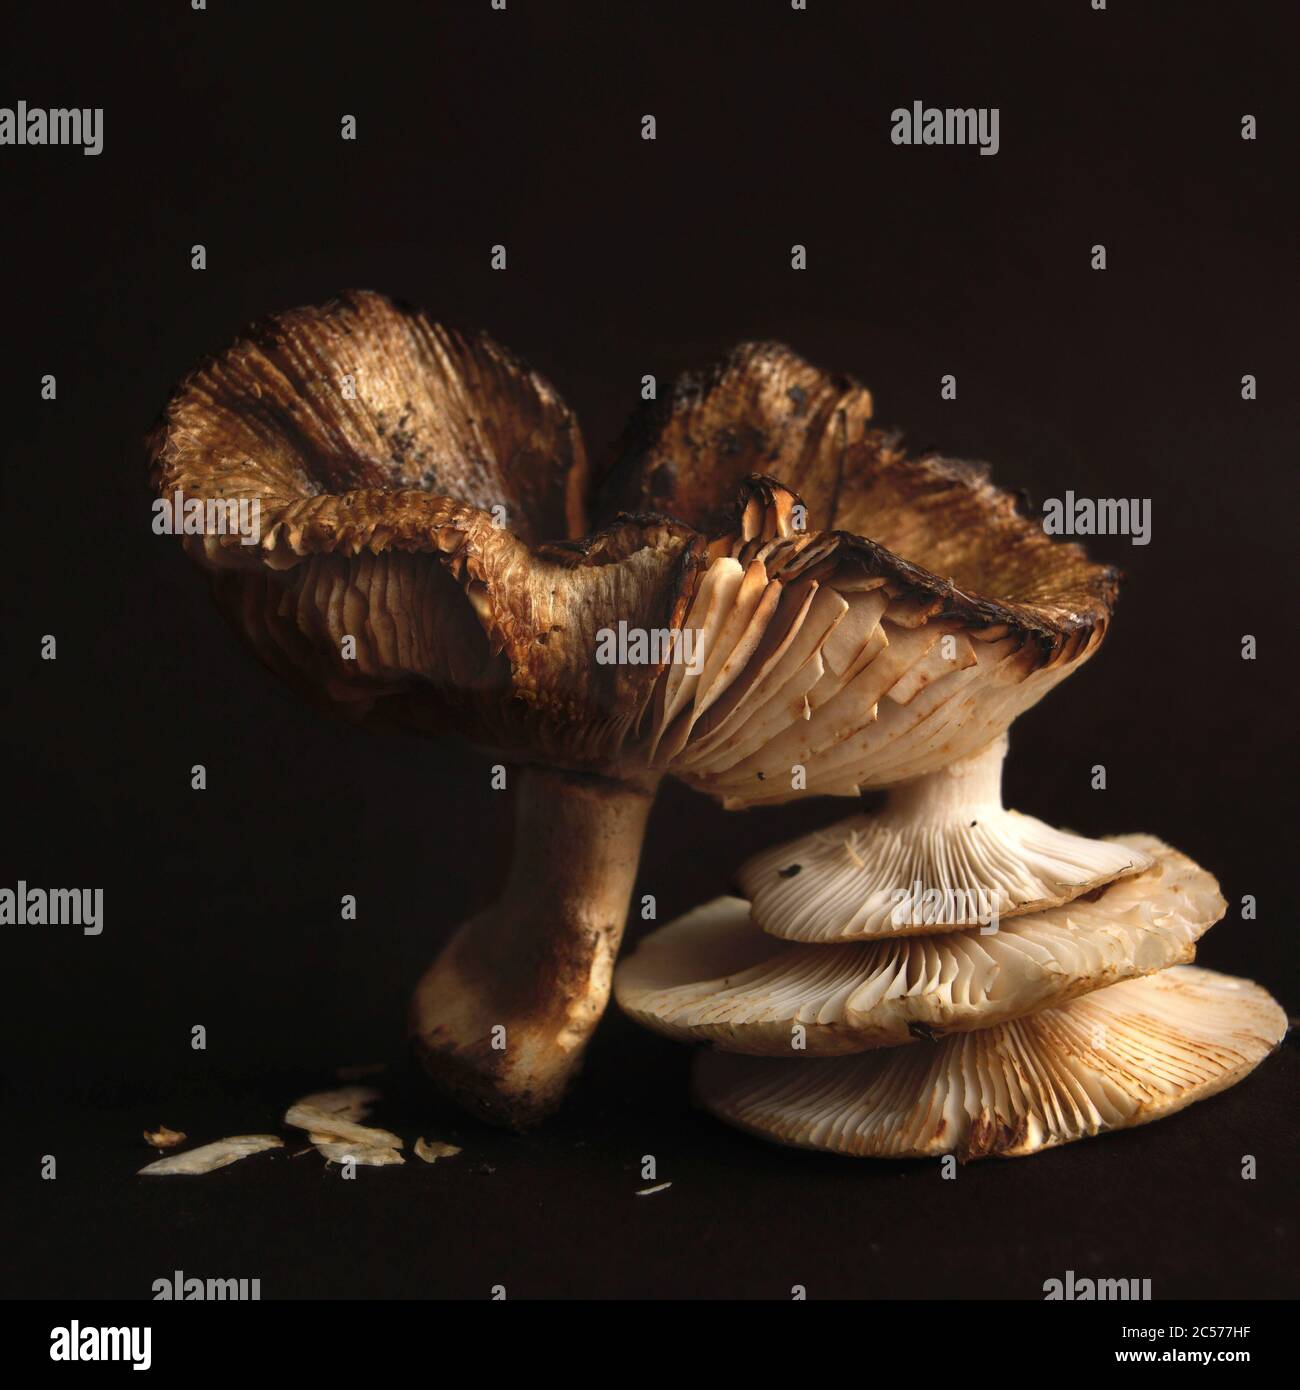
[[[922,1047],[704,1052],[695,1091],[719,1119],[798,1148],[1012,1158],[1172,1115],[1240,1081],[1285,1033],[1258,984],[1185,965]]]

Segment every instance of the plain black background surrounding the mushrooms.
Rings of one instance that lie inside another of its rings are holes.
[[[1008,802],[1192,853],[1229,899],[1201,963],[1294,1008],[1286,11],[10,7],[0,104],[106,115],[97,158],[0,147],[3,883],[101,885],[107,924],[4,929],[7,1293],[149,1297],[172,1269],[260,1277],[266,1298],[1034,1298],[1066,1269],[1151,1277],[1157,1297],[1294,1293],[1287,1048],[1182,1116],[955,1182],[731,1133],[690,1109],[685,1051],[616,1012],[545,1129],[438,1108],[402,1062],[406,997],[489,901],[507,798],[480,755],[324,721],[259,670],[152,534],[143,452],[200,356],[356,286],[488,328],[556,384],[598,460],[642,374],[772,336],[1036,502],[1150,498],[1148,546],[1091,543],[1126,571],[1118,620],[1016,723]],[[913,100],[998,107],[1001,152],[893,146],[890,111]],[[666,920],[848,809],[729,815],[669,785],[637,892]],[[346,1183],[291,1141],[207,1177],[131,1176],[145,1125],[264,1131],[335,1066],[385,1058],[375,1120],[455,1137],[460,1158]],[[673,1186],[638,1198],[644,1154]]]

